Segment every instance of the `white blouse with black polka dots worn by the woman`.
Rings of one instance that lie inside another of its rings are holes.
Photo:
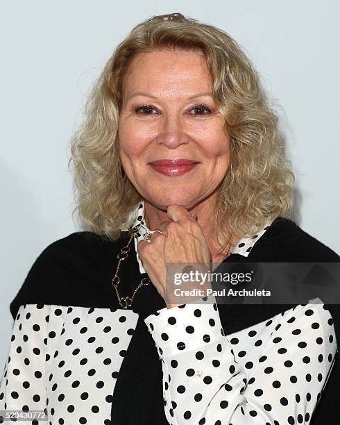
[[[232,252],[247,256],[269,225]],[[20,306],[0,411],[44,412],[44,419],[22,424],[114,425],[112,393],[137,319],[133,310]],[[229,335],[212,297],[162,308],[144,322],[162,362],[164,412],[173,425],[309,424],[337,353],[333,319],[322,303],[294,306]]]

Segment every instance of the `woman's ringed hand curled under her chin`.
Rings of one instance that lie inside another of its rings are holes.
[[[137,252],[143,267],[160,296],[171,308],[179,306],[172,299],[166,299],[167,263],[207,263],[211,262],[210,249],[201,226],[182,206],[171,205],[167,209],[169,220],[160,224],[164,233],[155,232],[151,243],[141,240],[137,243]],[[177,272],[177,271],[176,271]],[[182,272],[179,270],[178,273]],[[199,283],[196,288],[201,289]],[[174,285],[173,285],[174,287]],[[196,297],[198,299],[198,297]]]

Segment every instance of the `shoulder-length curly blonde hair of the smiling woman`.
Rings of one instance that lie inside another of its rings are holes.
[[[221,29],[180,13],[153,16],[135,26],[90,90],[85,119],[70,140],[76,201],[72,215],[87,230],[117,240],[142,200],[121,166],[117,130],[122,78],[137,53],[154,49],[199,51],[210,70],[214,102],[230,135],[230,167],[212,217],[223,252],[227,228],[252,237],[266,222],[291,210],[295,178],[282,151],[278,115],[241,47]]]

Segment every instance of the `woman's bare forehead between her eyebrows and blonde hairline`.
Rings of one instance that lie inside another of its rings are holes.
[[[211,88],[210,72],[203,53],[182,50],[138,53],[122,82],[124,97],[136,91],[180,97]]]

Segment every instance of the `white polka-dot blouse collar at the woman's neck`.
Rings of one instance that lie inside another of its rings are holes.
[[[139,272],[142,274],[146,272],[137,252],[137,242],[139,242],[139,240],[143,240],[145,235],[150,232],[144,221],[144,201],[140,201],[134,208],[133,212],[130,214],[129,217],[129,221],[131,220],[133,220],[133,223],[128,226],[124,226],[124,228],[121,228],[121,230],[130,231],[133,227],[139,226],[139,231],[135,233],[135,251],[137,256],[137,262],[139,265]],[[235,245],[235,247],[232,249],[232,251],[230,251],[229,255],[231,255],[232,253],[238,253],[241,256],[248,257],[254,244],[257,242],[257,240],[261,238],[261,236],[265,233],[267,228],[269,228],[272,222],[273,220],[267,222],[261,229],[261,231],[258,232],[253,238],[241,238],[237,245]]]

